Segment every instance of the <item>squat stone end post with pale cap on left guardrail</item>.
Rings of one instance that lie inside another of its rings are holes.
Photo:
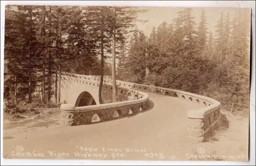
[[[74,125],[75,105],[62,104],[60,105],[60,110],[61,110],[60,125],[66,125],[66,126]]]

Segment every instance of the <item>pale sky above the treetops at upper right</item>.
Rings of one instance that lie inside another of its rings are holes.
[[[138,19],[148,20],[147,23],[141,24],[136,22],[137,28],[142,30],[146,35],[152,31],[153,27],[158,27],[164,21],[167,23],[172,23],[172,19],[177,18],[178,11],[183,10],[184,8],[178,7],[141,7],[142,9],[148,9],[145,13],[139,13]],[[235,15],[236,8],[192,8],[192,17],[195,17],[194,21],[196,22],[196,27],[200,22],[201,10],[204,9],[208,32],[212,31],[215,34],[215,25],[220,19],[220,13],[223,12],[224,16],[229,12],[231,20]]]

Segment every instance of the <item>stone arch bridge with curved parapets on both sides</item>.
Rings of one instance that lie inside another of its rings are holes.
[[[156,94],[156,97],[159,97],[158,100],[161,100],[162,97],[169,97],[167,98],[168,102],[172,103],[173,107],[177,106],[176,101],[180,103],[179,118],[182,118],[181,123],[187,119],[187,127],[184,130],[188,130],[188,140],[191,142],[199,142],[211,137],[220,123],[220,102],[209,97],[154,85],[148,86],[116,80],[116,84],[119,85],[117,86],[117,93],[130,96],[130,99],[132,97],[133,100],[100,104],[99,84],[99,76],[62,72],[60,99],[65,104],[60,106],[61,125],[76,126],[99,123],[148,111],[151,109],[148,104],[152,94]],[[111,76],[104,76],[103,89],[112,90]],[[158,100],[154,99],[151,102],[155,105],[159,102]],[[166,107],[164,105],[163,107],[168,111],[167,116],[170,116],[172,106],[167,105],[170,104],[166,103]],[[184,112],[185,105],[191,109],[186,110],[187,116],[183,117],[181,112]],[[166,115],[158,111],[155,112],[155,116]],[[176,125],[179,126],[180,124]]]

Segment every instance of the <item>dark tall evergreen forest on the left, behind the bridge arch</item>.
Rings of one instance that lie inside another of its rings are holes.
[[[103,75],[111,75],[112,66],[116,68],[109,55],[118,58],[121,54],[118,48],[125,47],[125,36],[133,31],[134,22],[143,22],[136,20],[140,12],[145,10],[112,6],[7,5],[4,41],[7,107],[20,102],[38,103],[35,92],[41,93],[43,104],[60,103],[57,94],[60,89],[57,81],[52,80],[60,79],[58,73],[62,71],[101,76],[99,98],[102,103]],[[38,76],[38,71],[42,76]],[[54,79],[52,73],[56,73]]]

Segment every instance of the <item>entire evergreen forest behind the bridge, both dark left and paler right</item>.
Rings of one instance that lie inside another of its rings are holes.
[[[36,102],[36,91],[41,91],[41,103],[58,103],[52,72],[111,75],[113,41],[119,80],[248,104],[249,10],[222,13],[216,32],[209,32],[205,11],[196,25],[192,9],[185,8],[149,37],[135,28],[135,21],[146,22],[136,20],[140,12],[146,11],[116,7],[113,16],[108,6],[6,6],[6,104]]]

